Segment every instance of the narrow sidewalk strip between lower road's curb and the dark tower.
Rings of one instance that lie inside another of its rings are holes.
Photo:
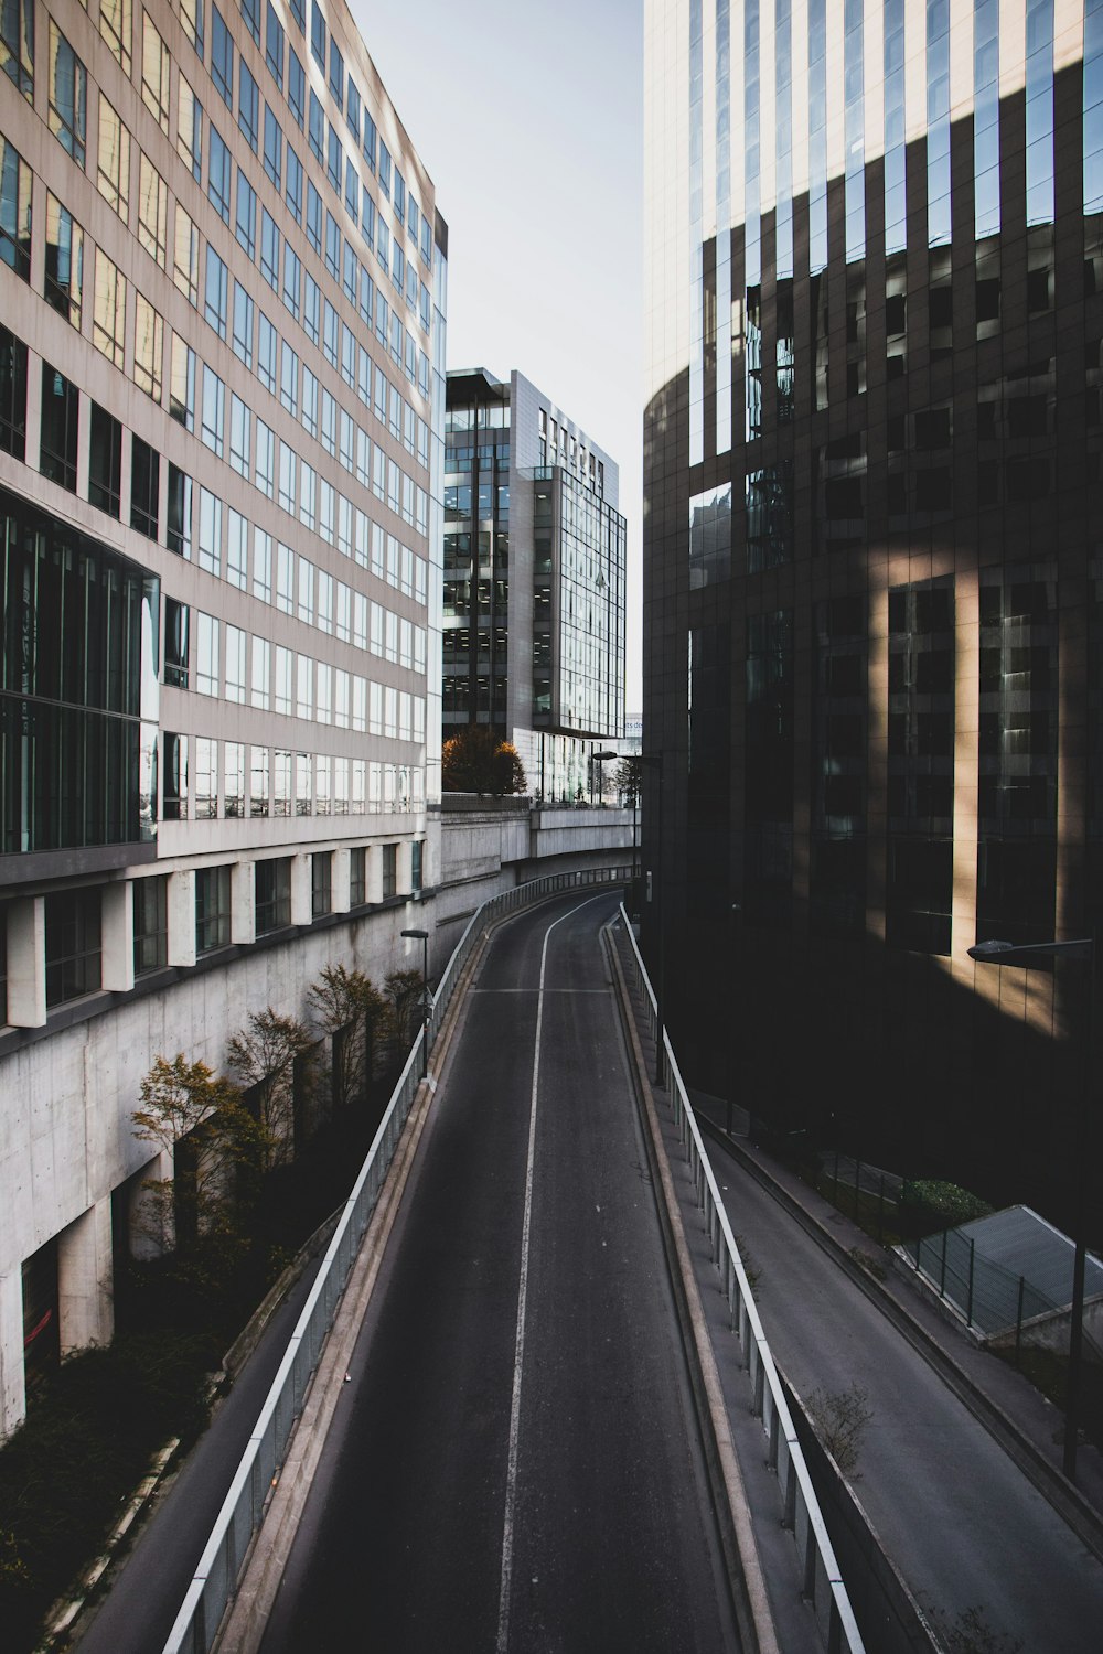
[[[774,1197],[789,1211],[799,1211],[804,1226],[812,1226],[822,1245],[857,1280],[878,1307],[890,1313],[905,1336],[910,1336],[924,1358],[941,1358],[961,1374],[961,1388],[954,1384],[972,1414],[996,1426],[997,1439],[1039,1490],[1062,1512],[1082,1517],[1077,1532],[1095,1553],[1103,1558],[1103,1454],[1082,1439],[1077,1452],[1077,1487],[1072,1489],[1062,1472],[1063,1417],[1047,1398],[1007,1361],[984,1350],[953,1312],[923,1287],[918,1277],[888,1247],[876,1240],[837,1211],[830,1201],[809,1188],[794,1171],[781,1164],[747,1138],[724,1133],[724,1100],[701,1092],[691,1093],[693,1108],[709,1135],[726,1143],[733,1154]],[[855,1264],[852,1249],[875,1257],[886,1270],[886,1279],[876,1280]],[[903,1325],[901,1325],[903,1322]]]

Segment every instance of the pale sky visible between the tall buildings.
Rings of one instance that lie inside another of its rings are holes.
[[[643,705],[643,0],[349,0],[448,223],[448,367],[516,367],[620,466]]]

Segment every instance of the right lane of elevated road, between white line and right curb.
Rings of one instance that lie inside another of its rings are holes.
[[[549,948],[549,981],[577,991],[544,1001],[509,1646],[729,1651],[655,1196],[589,923]]]

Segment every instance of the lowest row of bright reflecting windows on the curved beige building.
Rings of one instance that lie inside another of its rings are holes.
[[[160,736],[160,819],[379,815],[420,810],[425,771],[417,764],[294,753],[288,748]]]

